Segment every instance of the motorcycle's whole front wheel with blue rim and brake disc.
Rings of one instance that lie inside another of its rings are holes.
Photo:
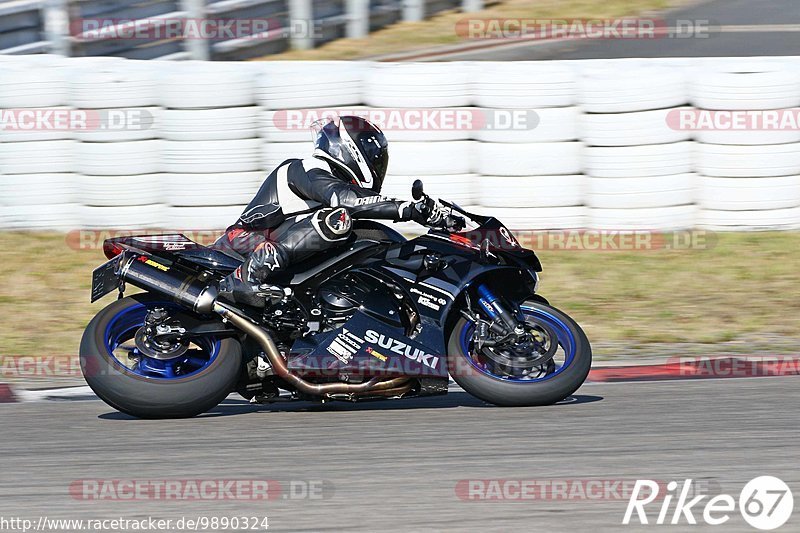
[[[461,318],[448,342],[450,375],[465,391],[495,405],[550,405],[561,401],[578,390],[589,375],[589,340],[572,318],[554,307],[527,301],[521,311],[526,330],[539,341],[535,350],[523,354],[514,347],[507,352],[479,349],[475,324]]]

